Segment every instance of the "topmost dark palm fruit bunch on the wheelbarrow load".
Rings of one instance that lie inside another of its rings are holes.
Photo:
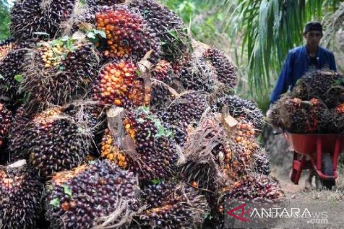
[[[344,75],[333,71],[318,70],[307,73],[299,79],[292,91],[292,96],[306,101],[317,98],[332,108],[338,102],[343,102],[343,85]]]

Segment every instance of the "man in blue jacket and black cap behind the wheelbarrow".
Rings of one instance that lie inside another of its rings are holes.
[[[276,102],[281,94],[292,89],[297,80],[306,72],[319,69],[337,70],[333,53],[319,46],[322,36],[322,26],[319,22],[309,22],[306,24],[303,33],[306,45],[293,48],[289,51],[282,72],[277,80],[276,87],[271,94],[271,104]],[[315,171],[310,169],[306,181],[306,188],[312,187],[312,178],[314,175]]]

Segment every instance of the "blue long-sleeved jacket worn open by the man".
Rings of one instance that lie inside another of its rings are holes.
[[[328,67],[337,71],[333,53],[326,48],[319,47],[316,53],[318,69]],[[277,80],[276,87],[270,98],[270,103],[277,101],[281,94],[286,93],[290,87],[292,89],[298,79],[309,71],[310,57],[305,46],[293,48],[289,51],[284,62],[283,69]]]

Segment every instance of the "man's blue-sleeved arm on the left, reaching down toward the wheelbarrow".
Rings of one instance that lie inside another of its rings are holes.
[[[279,96],[288,91],[288,87],[291,84],[292,77],[292,66],[293,66],[293,53],[289,51],[288,57],[284,62],[281,74],[278,77],[275,89],[271,94],[270,103],[274,103],[279,99]]]

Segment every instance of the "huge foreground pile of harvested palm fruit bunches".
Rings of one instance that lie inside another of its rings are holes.
[[[0,228],[221,228],[283,198],[236,68],[155,0],[17,0],[0,53]]]

